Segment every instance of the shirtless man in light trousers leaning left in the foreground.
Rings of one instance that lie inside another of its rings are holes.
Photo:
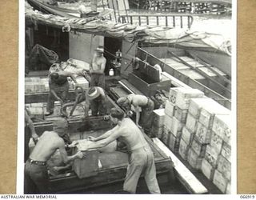
[[[150,193],[160,194],[154,166],[154,154],[138,126],[130,118],[124,118],[124,115],[122,110],[112,108],[110,110],[110,120],[116,126],[98,138],[90,137],[93,142],[88,144],[87,150],[102,148],[115,139],[121,138],[130,152],[123,190],[133,194],[136,193],[138,178],[144,172],[146,185]]]

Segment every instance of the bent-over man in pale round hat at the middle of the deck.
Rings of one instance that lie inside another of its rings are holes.
[[[96,115],[106,115],[106,94],[105,90],[103,90],[99,86],[90,87],[87,94],[87,99],[90,103],[91,114],[93,116]]]

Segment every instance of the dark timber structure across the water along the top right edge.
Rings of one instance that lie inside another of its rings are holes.
[[[189,14],[231,14],[230,2],[130,0],[130,8]]]

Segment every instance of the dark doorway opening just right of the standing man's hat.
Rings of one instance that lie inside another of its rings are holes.
[[[104,38],[104,56],[106,58],[106,69],[105,74],[108,75],[110,69],[114,68],[112,61],[115,59],[115,53],[118,50],[122,50],[122,39],[117,38]]]

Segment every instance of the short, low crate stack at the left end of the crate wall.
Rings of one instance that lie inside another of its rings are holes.
[[[165,120],[165,110],[157,109],[153,111],[153,122],[150,131],[151,137],[162,138],[162,129]]]

